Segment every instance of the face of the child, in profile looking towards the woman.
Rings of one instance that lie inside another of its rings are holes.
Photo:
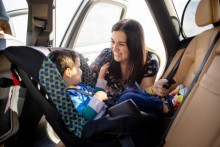
[[[77,85],[81,83],[82,70],[80,69],[80,59],[76,58],[75,66],[71,69],[70,82],[72,85]]]

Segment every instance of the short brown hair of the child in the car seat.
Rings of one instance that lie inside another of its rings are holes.
[[[52,51],[49,55],[48,58],[56,64],[56,67],[60,74],[63,76],[64,71],[67,68],[73,68],[75,64],[76,58],[79,58],[77,52],[73,50],[67,50],[67,49],[62,49],[62,50],[55,50]]]

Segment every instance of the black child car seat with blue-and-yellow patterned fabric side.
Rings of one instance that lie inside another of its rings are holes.
[[[155,146],[158,143],[160,117],[140,112],[129,101],[116,105],[106,116],[86,123],[72,106],[62,77],[47,58],[48,53],[44,54],[57,49],[63,48],[18,46],[8,47],[4,54],[30,92],[32,100],[66,146],[132,147]],[[135,110],[135,113],[121,111],[123,107],[132,106],[134,109],[130,110]]]

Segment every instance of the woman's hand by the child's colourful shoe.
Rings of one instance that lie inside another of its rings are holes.
[[[169,93],[169,90],[166,88],[163,88],[163,85],[166,84],[168,82],[167,79],[159,79],[157,82],[154,83],[153,85],[153,93],[164,97]]]

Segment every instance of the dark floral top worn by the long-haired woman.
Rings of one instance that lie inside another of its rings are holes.
[[[146,64],[144,65],[144,73],[142,78],[155,76],[159,70],[159,60],[155,53],[148,51],[147,52]],[[92,70],[92,76],[94,78],[94,82],[97,81],[99,70],[107,62],[110,62],[113,59],[112,51],[110,48],[105,48],[100,55],[96,58],[96,60],[91,64],[90,68]],[[111,73],[108,73],[105,76],[105,80],[108,82],[106,87],[106,93],[108,95],[109,100],[107,101],[107,105],[111,106],[116,103],[117,98],[120,94],[127,88],[124,84],[122,84],[122,80],[118,77],[115,77]]]

